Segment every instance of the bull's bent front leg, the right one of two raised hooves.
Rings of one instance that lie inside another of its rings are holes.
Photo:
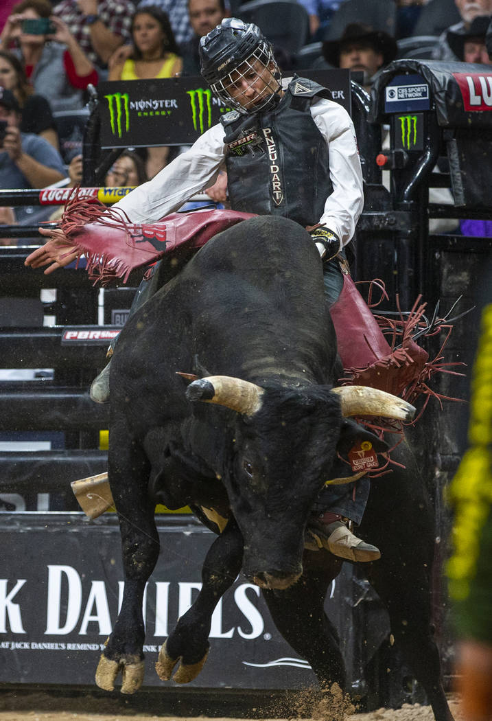
[[[230,519],[210,547],[202,567],[202,588],[193,606],[176,624],[161,648],[156,663],[159,678],[169,681],[181,661],[173,681],[187,684],[202,671],[209,648],[212,614],[221,596],[236,580],[243,559],[243,536]]]

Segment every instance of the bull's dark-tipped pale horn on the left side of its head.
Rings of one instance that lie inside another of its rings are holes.
[[[231,376],[200,378],[190,383],[186,390],[190,401],[218,403],[243,415],[254,415],[259,411],[263,393],[261,386]]]

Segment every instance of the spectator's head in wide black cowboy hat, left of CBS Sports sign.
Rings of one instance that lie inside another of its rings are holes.
[[[336,68],[362,71],[367,89],[377,71],[395,59],[397,49],[395,38],[388,32],[351,22],[341,37],[323,42],[323,57]]]

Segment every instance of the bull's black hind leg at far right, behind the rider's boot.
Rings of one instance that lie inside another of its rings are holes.
[[[434,513],[416,459],[406,446],[400,451],[397,460],[406,469],[386,483],[378,479],[371,489],[361,530],[380,548],[381,558],[364,571],[388,609],[395,642],[436,720],[452,721],[431,626]]]

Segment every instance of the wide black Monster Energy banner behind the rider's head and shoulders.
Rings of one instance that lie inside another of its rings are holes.
[[[348,71],[303,75],[330,88],[334,101],[350,112]],[[194,143],[231,110],[214,97],[202,77],[108,81],[97,90],[102,148]]]

